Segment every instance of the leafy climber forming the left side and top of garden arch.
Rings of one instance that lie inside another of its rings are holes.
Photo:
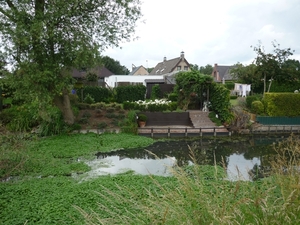
[[[209,87],[212,80],[212,76],[203,75],[196,70],[176,74],[174,92],[178,95],[179,108],[187,110],[192,99],[191,94],[201,93],[199,97],[202,97],[203,91]]]

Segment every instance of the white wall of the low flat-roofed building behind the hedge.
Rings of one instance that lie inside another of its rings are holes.
[[[164,79],[164,76],[162,75],[111,75],[109,77],[105,77],[104,81],[106,85],[108,85],[111,88],[114,88],[116,83],[118,82],[130,82],[130,83],[143,83],[143,85],[146,86],[145,80],[150,79]]]

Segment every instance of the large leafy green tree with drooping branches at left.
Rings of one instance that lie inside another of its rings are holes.
[[[99,50],[131,40],[139,0],[2,0],[0,38],[14,96],[54,104],[74,123],[71,68],[92,66]]]

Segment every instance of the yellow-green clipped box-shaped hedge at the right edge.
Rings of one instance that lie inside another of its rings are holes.
[[[297,93],[266,93],[266,113],[269,116],[299,116],[300,95]]]

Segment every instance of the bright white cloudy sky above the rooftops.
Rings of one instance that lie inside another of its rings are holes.
[[[300,0],[142,0],[144,23],[138,40],[109,48],[102,55],[131,65],[154,67],[163,57],[185,52],[191,64],[249,64],[250,46],[259,41],[267,52],[276,40],[295,50],[300,60]]]

